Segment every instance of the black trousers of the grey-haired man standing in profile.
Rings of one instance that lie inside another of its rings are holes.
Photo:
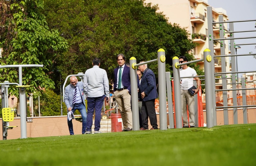
[[[141,107],[141,118],[142,118],[142,127],[148,129],[148,117],[150,124],[154,129],[158,129],[156,111],[155,111],[155,99],[143,101]]]

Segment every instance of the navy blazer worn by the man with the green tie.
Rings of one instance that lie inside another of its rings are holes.
[[[117,72],[119,70],[119,66],[117,68],[114,69],[114,91],[117,90],[116,85],[117,85]],[[124,70],[122,73],[122,84],[124,86],[125,89],[129,90],[129,93],[131,94],[131,74],[130,74],[130,67],[124,65]],[[140,82],[139,82],[139,78],[137,75],[137,84],[138,84],[138,88],[140,87]]]

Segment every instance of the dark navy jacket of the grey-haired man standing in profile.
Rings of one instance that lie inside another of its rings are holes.
[[[140,92],[145,93],[145,97],[142,99],[143,101],[158,98],[156,91],[156,77],[153,71],[149,68],[146,68],[143,72],[140,84]]]

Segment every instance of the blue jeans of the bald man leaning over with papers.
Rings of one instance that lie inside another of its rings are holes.
[[[82,134],[84,134],[86,131],[86,119],[87,119],[85,105],[83,103],[74,104],[74,107],[72,108],[71,111],[74,113],[76,110],[78,110],[82,116],[82,120],[83,120],[82,121]],[[69,129],[70,135],[73,135],[74,131],[73,131],[72,119],[71,119],[71,121],[68,120],[68,129]]]

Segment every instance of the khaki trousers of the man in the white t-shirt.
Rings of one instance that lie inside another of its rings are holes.
[[[187,105],[188,105],[189,126],[195,126],[194,96],[192,96],[188,92],[188,90],[180,90],[180,91],[181,91],[181,109],[182,109],[183,125],[188,126],[188,114],[187,114]]]

